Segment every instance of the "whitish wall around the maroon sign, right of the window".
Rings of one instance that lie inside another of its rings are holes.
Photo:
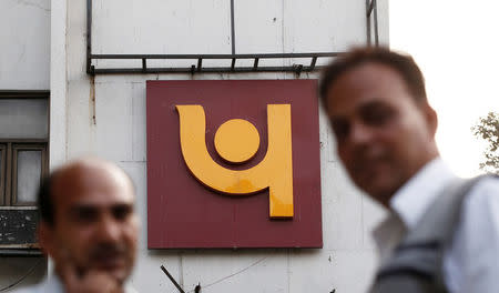
[[[231,53],[230,0],[93,2],[93,53]],[[365,0],[234,2],[236,53],[343,51],[366,42]],[[387,0],[379,2],[380,31],[386,42]],[[162,264],[186,292],[198,283],[202,292],[294,293],[336,289],[336,292],[356,293],[366,290],[376,262],[369,230],[383,216],[383,211],[346,178],[324,113],[320,113],[324,249],[146,249],[145,81],[297,78],[294,73],[91,78],[85,73],[85,1],[53,0],[51,21],[51,166],[93,153],[118,162],[131,174],[138,188],[138,211],[143,225],[139,263],[132,277],[138,290],[176,292],[160,270]],[[138,62],[94,64],[140,65]],[[164,62],[149,65],[164,65]],[[303,73],[299,78],[317,77],[317,73]]]

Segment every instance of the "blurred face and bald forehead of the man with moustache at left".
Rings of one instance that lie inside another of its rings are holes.
[[[132,272],[139,231],[128,176],[109,165],[78,165],[54,180],[51,195],[54,224],[45,224],[44,249],[55,267],[69,261],[80,275],[108,272],[122,284]]]

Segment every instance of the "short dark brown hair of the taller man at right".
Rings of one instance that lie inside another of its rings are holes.
[[[327,65],[320,78],[319,94],[327,107],[327,94],[336,80],[345,72],[365,64],[379,63],[395,70],[406,82],[407,90],[417,103],[426,102],[425,78],[410,55],[400,54],[383,47],[357,48],[338,57]]]

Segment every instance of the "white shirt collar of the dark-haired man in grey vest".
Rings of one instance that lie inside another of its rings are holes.
[[[389,206],[407,230],[411,230],[428,205],[441,190],[457,176],[441,158],[436,158],[421,168],[390,199]]]

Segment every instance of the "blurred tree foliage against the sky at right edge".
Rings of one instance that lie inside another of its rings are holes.
[[[475,137],[487,142],[485,161],[480,163],[480,169],[499,174],[499,113],[489,112],[487,117],[481,117],[471,131]]]

